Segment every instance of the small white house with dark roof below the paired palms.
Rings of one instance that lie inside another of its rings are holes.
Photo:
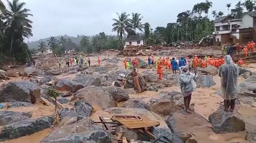
[[[138,45],[144,45],[144,40],[139,35],[128,35],[125,39],[125,45],[124,48],[129,46],[138,46]]]

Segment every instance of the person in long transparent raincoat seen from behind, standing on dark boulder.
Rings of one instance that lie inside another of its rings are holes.
[[[220,66],[218,75],[221,77],[221,95],[224,98],[224,110],[233,112],[235,108],[237,79],[239,69],[233,63],[230,55],[224,57],[224,65]]]

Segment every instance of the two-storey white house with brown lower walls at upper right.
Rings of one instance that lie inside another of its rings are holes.
[[[214,20],[213,35],[221,44],[256,41],[256,11],[245,12],[241,19],[231,15]]]

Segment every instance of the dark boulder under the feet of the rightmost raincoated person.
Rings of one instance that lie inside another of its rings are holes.
[[[214,133],[236,133],[245,130],[245,123],[232,112],[217,110],[209,116]]]

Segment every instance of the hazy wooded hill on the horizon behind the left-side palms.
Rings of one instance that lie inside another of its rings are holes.
[[[77,35],[77,37],[74,37],[74,36],[68,36],[68,35],[64,35],[65,36],[65,38],[70,38],[71,40],[72,40],[72,42],[74,42],[75,44],[77,44],[77,45],[79,45],[80,44],[80,41],[81,41],[81,39],[82,39],[82,37],[84,36],[84,35]],[[93,36],[87,36],[88,37],[88,39],[91,41],[91,39],[93,38]],[[61,36],[55,36],[55,38],[56,39],[59,39],[59,38],[61,38]],[[39,44],[39,42],[40,41],[43,41],[43,42],[45,42],[46,43],[46,45],[47,45],[47,40],[49,39],[49,37],[48,38],[43,38],[43,39],[39,39],[39,40],[37,40],[37,41],[29,41],[29,42],[27,42],[27,45],[29,46],[29,49],[38,49],[38,44]]]

